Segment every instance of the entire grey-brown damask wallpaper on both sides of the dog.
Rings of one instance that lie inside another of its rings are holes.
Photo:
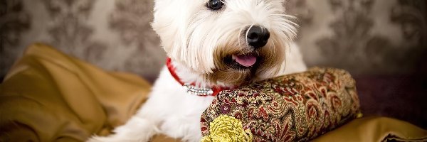
[[[309,66],[354,75],[419,72],[427,58],[426,0],[285,0]],[[48,43],[105,70],[154,80],[164,51],[152,0],[1,0],[0,75],[26,46]]]

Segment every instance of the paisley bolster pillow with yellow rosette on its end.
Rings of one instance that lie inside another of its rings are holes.
[[[361,115],[354,85],[345,70],[314,67],[223,91],[201,116],[203,141],[309,141]]]

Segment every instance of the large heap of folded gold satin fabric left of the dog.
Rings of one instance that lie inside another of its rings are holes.
[[[151,85],[31,45],[0,86],[1,139],[85,141],[125,123]],[[22,135],[22,136],[21,136]]]

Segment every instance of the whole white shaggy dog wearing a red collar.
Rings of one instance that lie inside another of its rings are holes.
[[[155,0],[152,27],[168,65],[135,116],[89,141],[149,141],[156,133],[200,141],[201,114],[218,91],[306,70],[283,3]]]

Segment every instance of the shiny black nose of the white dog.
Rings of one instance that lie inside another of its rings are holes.
[[[253,48],[261,48],[267,44],[268,38],[270,38],[270,32],[267,28],[260,26],[249,27],[246,39],[248,40],[249,45]]]

